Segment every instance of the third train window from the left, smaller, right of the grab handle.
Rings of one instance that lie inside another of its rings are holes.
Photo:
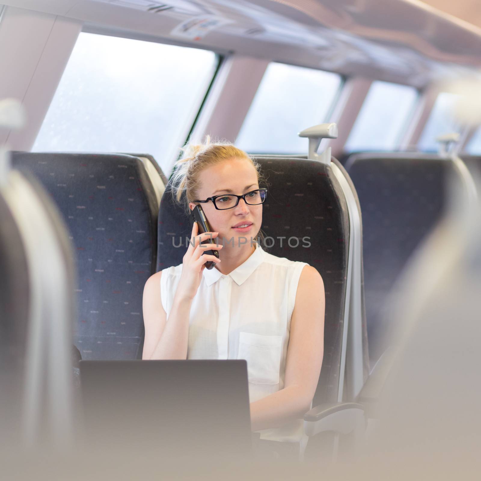
[[[344,146],[345,151],[382,151],[398,147],[417,100],[418,91],[413,87],[373,82]]]

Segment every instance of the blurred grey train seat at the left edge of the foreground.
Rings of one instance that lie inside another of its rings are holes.
[[[0,446],[68,445],[75,265],[61,215],[0,149]],[[4,176],[3,174],[6,174]]]

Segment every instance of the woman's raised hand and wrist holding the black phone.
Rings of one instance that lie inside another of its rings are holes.
[[[193,299],[199,286],[201,284],[202,273],[205,268],[205,263],[208,261],[220,262],[215,255],[203,254],[204,251],[212,249],[212,243],[202,244],[206,239],[212,239],[219,235],[218,232],[204,232],[197,236],[198,233],[197,222],[192,226],[192,233],[189,242],[189,248],[182,258],[182,274],[177,286],[176,296],[182,299]],[[218,251],[224,247],[221,244],[215,244],[215,250]]]

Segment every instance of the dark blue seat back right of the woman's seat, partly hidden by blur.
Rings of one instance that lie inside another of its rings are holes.
[[[357,154],[346,165],[363,215],[367,335],[371,366],[387,348],[381,311],[388,293],[445,205],[453,164],[417,154]]]

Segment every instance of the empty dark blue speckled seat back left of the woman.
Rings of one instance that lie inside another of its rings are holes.
[[[51,194],[76,249],[77,327],[82,359],[142,354],[142,292],[155,272],[152,183],[129,155],[12,152]]]

